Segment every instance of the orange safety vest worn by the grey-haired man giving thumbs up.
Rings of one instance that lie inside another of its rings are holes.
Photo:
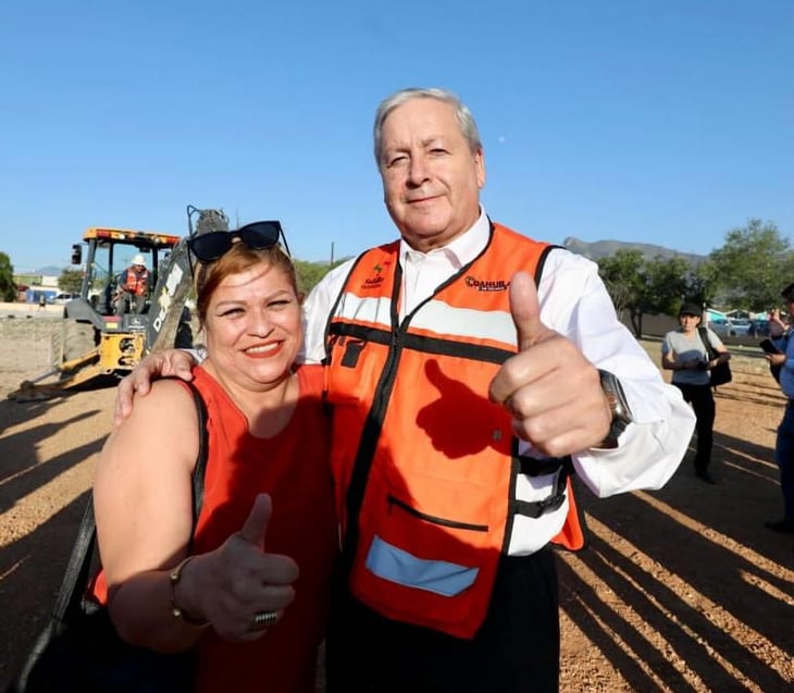
[[[570,459],[518,454],[504,407],[488,399],[517,351],[508,287],[541,275],[548,244],[492,225],[488,245],[399,323],[399,243],[364,252],[326,329],[331,463],[352,594],[387,618],[472,638],[488,609],[516,515],[568,500],[553,541],[578,549],[582,523]],[[537,503],[519,473],[557,472]]]

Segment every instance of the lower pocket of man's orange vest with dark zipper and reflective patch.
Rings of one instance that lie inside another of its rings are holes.
[[[504,537],[493,487],[414,470],[408,488],[396,470],[389,474],[390,482],[382,470],[370,478],[352,591],[389,618],[471,638]]]

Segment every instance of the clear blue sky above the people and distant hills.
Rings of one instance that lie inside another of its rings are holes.
[[[469,104],[483,202],[528,235],[794,235],[790,0],[8,0],[0,65],[16,271],[89,226],[184,234],[187,205],[281,219],[305,260],[392,239],[371,127],[407,86]]]

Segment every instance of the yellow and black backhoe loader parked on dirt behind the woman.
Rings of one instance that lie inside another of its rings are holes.
[[[223,210],[187,208],[188,237],[227,231]],[[83,261],[85,250],[85,262]],[[92,227],[72,246],[72,264],[83,265],[79,296],[65,304],[52,334],[51,368],[9,395],[17,401],[47,399],[66,391],[113,380],[159,348],[193,345],[190,265],[187,237]],[[140,256],[140,257],[139,257]],[[123,305],[123,275],[142,260],[149,289],[141,307]]]

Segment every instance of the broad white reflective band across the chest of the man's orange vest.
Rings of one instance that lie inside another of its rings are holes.
[[[337,315],[381,324],[390,330],[389,309],[390,300],[387,298],[361,298],[348,293],[339,302]],[[509,311],[454,308],[444,301],[431,300],[411,319],[411,326],[444,335],[516,344],[516,324]]]

